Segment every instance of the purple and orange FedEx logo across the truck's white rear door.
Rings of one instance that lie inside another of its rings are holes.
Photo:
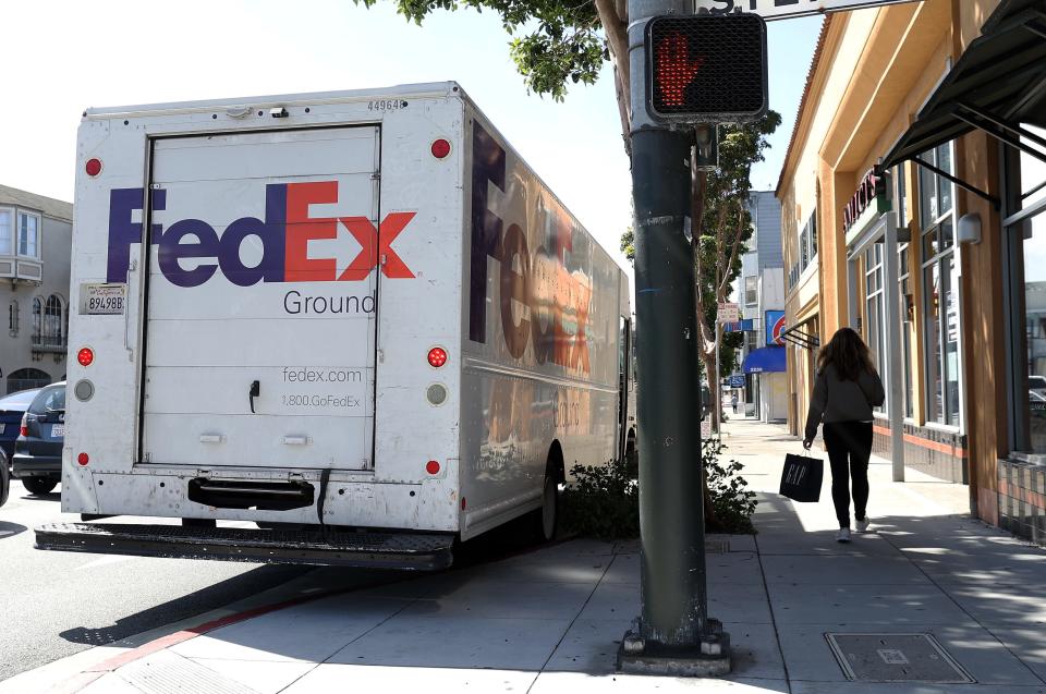
[[[143,207],[142,188],[115,188],[109,194],[109,260],[106,279],[125,282],[131,245],[142,243],[142,224],[132,221]],[[219,269],[240,287],[258,282],[352,282],[376,268],[390,279],[414,273],[392,249],[392,242],[415,212],[390,212],[375,229],[366,217],[309,217],[309,205],[338,202],[338,182],[272,183],[265,186],[265,219],[241,217],[219,238],[202,219],[153,224],[149,243],[157,246],[160,271],[178,287],[199,287]],[[167,209],[167,191],[153,191],[153,209]],[[344,228],[360,244],[358,254],[339,269],[337,258],[311,257],[308,242],[337,239]],[[244,263],[241,246],[248,236],[260,241],[262,259]],[[184,264],[182,260],[188,260]],[[186,265],[192,267],[186,267]]]

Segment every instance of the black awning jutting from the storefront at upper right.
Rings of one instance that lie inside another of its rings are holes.
[[[915,123],[883,160],[912,159],[975,127],[1018,146],[1019,123],[1046,126],[1046,1],[1002,0]]]

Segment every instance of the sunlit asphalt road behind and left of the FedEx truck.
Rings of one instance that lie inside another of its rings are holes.
[[[59,510],[60,490],[34,497],[12,480],[0,508],[0,681],[314,571],[34,549],[37,525],[80,521]]]

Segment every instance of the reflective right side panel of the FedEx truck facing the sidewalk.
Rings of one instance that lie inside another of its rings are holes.
[[[478,111],[469,115],[463,537],[538,508],[547,465],[569,474],[615,458],[628,315],[617,265]]]

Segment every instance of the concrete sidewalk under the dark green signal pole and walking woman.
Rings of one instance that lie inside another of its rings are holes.
[[[758,535],[723,537],[729,551],[707,556],[709,616],[733,643],[726,679],[616,674],[640,611],[638,547],[570,540],[124,644],[134,650],[86,652],[0,692],[1046,693],[1046,551],[971,520],[965,487],[912,471],[896,484],[889,462],[873,459],[876,532],[839,545],[827,471],[820,503],[776,494],[798,440],[746,419],[728,423],[723,438],[759,492]],[[840,646],[859,675],[866,663],[973,682],[848,680],[826,634],[881,634]],[[917,644],[889,634],[932,634],[944,653],[921,658]]]

